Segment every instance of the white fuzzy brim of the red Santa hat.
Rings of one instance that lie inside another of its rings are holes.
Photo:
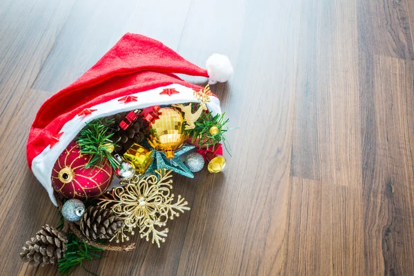
[[[159,93],[165,88],[174,88],[179,91],[179,94],[173,95],[159,95]],[[122,97],[112,99],[106,103],[100,103],[96,106],[90,106],[90,109],[96,109],[92,114],[88,116],[76,115],[72,120],[68,121],[59,132],[63,132],[59,142],[55,144],[53,148],[49,146],[45,148],[41,154],[34,157],[32,161],[32,171],[34,176],[39,179],[40,183],[48,191],[50,200],[57,206],[57,201],[53,195],[52,182],[50,177],[52,175],[53,166],[61,152],[65,150],[70,141],[75,139],[79,131],[86,125],[86,123],[110,115],[117,114],[119,112],[125,112],[128,110],[135,110],[137,108],[146,108],[147,106],[156,105],[169,105],[172,103],[188,103],[188,102],[199,102],[193,95],[193,89],[180,84],[171,84],[170,86],[164,86],[147,90],[144,92],[138,92],[132,94],[137,97],[137,101],[130,103],[124,103],[118,101]],[[221,113],[220,102],[217,97],[210,97],[210,102],[207,103],[208,110],[213,112],[213,115]]]

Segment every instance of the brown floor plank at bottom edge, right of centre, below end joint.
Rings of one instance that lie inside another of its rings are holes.
[[[287,275],[364,275],[358,188],[292,177]]]

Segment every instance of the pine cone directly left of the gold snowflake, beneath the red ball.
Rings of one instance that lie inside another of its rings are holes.
[[[96,242],[97,239],[111,239],[124,227],[124,220],[108,208],[90,206],[81,217],[79,226],[83,235]]]

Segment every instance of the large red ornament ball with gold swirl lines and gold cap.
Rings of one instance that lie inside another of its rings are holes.
[[[75,141],[70,142],[52,170],[52,186],[66,198],[86,200],[98,197],[110,186],[114,169],[108,160],[100,167],[84,168],[92,155],[81,154]]]

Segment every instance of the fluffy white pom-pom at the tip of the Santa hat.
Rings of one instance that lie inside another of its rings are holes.
[[[214,84],[217,81],[226,82],[233,75],[233,66],[231,66],[230,59],[225,55],[210,55],[206,61],[206,68],[208,72],[208,84]]]

